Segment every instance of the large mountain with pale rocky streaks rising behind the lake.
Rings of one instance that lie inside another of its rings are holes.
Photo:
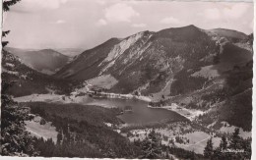
[[[157,106],[174,102],[202,112],[195,121],[206,127],[221,128],[225,121],[250,131],[252,39],[225,28],[147,30],[109,39],[54,76],[87,80],[107,92],[139,92]]]

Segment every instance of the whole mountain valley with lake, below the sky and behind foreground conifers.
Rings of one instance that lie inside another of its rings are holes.
[[[216,149],[239,129],[248,158],[252,42],[191,25],[111,38],[73,58],[6,47],[2,80],[14,82],[2,90],[31,109],[40,156],[143,158],[155,133],[160,158],[204,159],[210,139]]]

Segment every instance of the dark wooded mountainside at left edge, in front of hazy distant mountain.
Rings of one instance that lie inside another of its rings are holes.
[[[15,97],[49,92],[68,94],[72,87],[79,83],[74,80],[56,79],[32,70],[32,68],[23,64],[18,56],[5,50],[2,55],[1,78],[13,83],[8,88],[2,88],[2,91]]]

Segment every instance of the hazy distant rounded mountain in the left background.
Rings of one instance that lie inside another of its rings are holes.
[[[21,58],[22,62],[27,66],[47,75],[54,74],[71,59],[52,49],[29,50],[10,47],[5,49]]]

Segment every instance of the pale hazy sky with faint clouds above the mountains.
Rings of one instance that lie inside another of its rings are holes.
[[[111,37],[195,25],[251,33],[253,3],[22,0],[5,13],[9,46],[89,49]]]

